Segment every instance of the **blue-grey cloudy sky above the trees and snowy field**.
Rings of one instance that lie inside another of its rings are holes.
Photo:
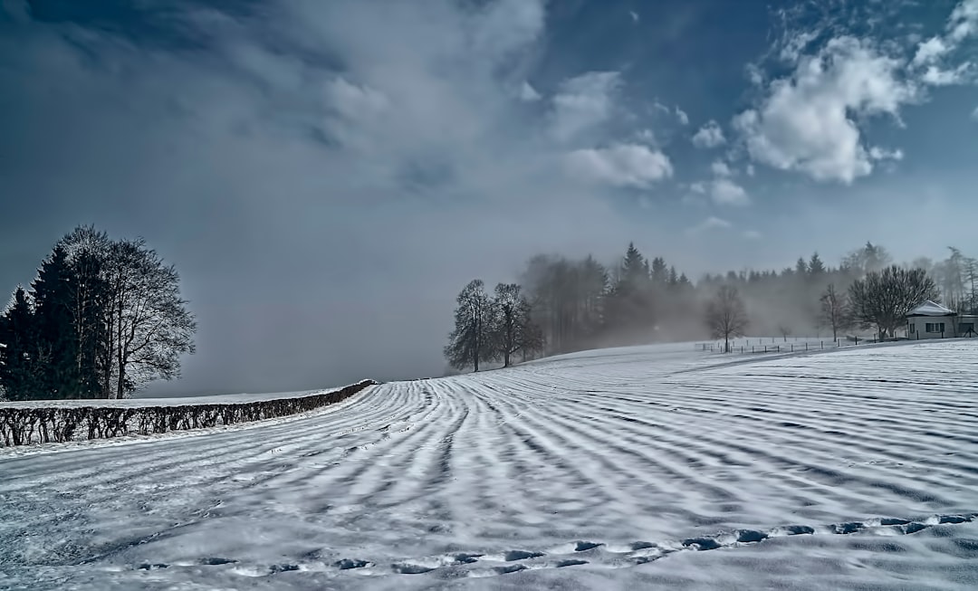
[[[154,394],[439,374],[454,296],[978,254],[978,0],[0,0],[0,287],[77,224],[200,321]]]

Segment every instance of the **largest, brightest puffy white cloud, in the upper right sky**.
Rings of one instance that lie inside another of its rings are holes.
[[[756,108],[733,120],[751,159],[818,181],[852,183],[872,171],[854,118],[886,113],[916,99],[898,77],[900,62],[853,37],[830,40],[771,84]]]

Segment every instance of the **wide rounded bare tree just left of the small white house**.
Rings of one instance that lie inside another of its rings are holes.
[[[867,274],[849,288],[853,317],[873,326],[880,338],[893,337],[905,318],[924,300],[937,300],[940,291],[922,269],[887,267]]]

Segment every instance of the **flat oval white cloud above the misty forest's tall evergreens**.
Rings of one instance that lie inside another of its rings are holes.
[[[577,149],[567,154],[566,163],[578,178],[612,187],[645,189],[673,174],[668,156],[636,144]]]

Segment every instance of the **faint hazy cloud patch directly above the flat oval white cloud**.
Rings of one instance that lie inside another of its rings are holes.
[[[561,83],[554,97],[554,137],[567,141],[606,121],[620,85],[616,71],[588,72]]]

